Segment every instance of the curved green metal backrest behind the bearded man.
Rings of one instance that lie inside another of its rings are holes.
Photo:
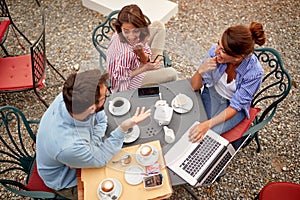
[[[20,186],[27,184],[35,159],[37,124],[14,107],[0,108],[0,183],[4,186],[8,180]]]

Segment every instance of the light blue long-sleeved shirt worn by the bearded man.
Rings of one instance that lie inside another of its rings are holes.
[[[75,120],[59,94],[44,113],[37,133],[37,168],[45,184],[55,190],[70,188],[77,185],[75,168],[105,166],[124,139],[124,132],[117,128],[104,140],[106,127],[104,111],[86,121]]]

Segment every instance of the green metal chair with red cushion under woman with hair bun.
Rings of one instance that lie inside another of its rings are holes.
[[[243,148],[255,139],[257,152],[261,151],[258,133],[274,117],[279,103],[281,103],[292,87],[289,73],[282,64],[279,53],[272,48],[256,48],[254,54],[259,59],[265,75],[259,91],[254,95],[251,102],[250,120],[243,120],[237,127],[222,134],[233,146],[240,146],[247,136]],[[220,178],[217,179],[220,181]],[[182,185],[194,199],[199,199],[189,185]]]

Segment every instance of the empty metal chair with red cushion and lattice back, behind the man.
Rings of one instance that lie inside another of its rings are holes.
[[[48,107],[38,90],[44,87],[46,70],[45,24],[42,32],[30,47],[30,54],[0,58],[0,93],[33,90]]]

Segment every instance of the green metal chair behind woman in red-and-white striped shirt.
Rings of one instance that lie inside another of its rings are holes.
[[[96,28],[93,30],[92,33],[93,44],[97,49],[97,51],[99,52],[99,64],[100,64],[101,71],[104,71],[106,69],[106,67],[104,67],[106,62],[106,50],[109,41],[111,39],[111,36],[115,32],[114,22],[116,21],[119,12],[120,10],[115,10],[111,12],[102,23],[96,26]],[[147,16],[145,16],[145,18],[150,24],[151,23],[150,19]],[[163,56],[164,56],[164,66],[171,67],[172,61],[165,51],[163,52]]]

